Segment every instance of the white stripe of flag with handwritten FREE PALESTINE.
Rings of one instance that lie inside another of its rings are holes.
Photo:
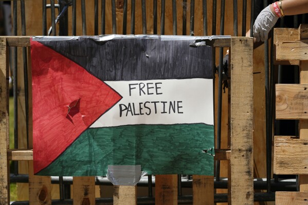
[[[123,98],[91,127],[132,124],[214,124],[212,79],[106,81],[105,83],[119,92]],[[140,90],[139,87],[143,89]]]

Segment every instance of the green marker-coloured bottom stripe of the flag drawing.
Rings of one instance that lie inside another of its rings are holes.
[[[87,129],[38,173],[105,176],[108,165],[137,165],[148,174],[213,175],[214,127],[206,124],[125,125]]]

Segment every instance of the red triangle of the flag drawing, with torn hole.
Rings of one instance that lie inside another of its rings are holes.
[[[31,59],[33,161],[38,173],[122,97],[39,42],[31,41]]]

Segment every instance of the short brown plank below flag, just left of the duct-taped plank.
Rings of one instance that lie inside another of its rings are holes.
[[[73,204],[95,204],[95,177],[73,177]]]

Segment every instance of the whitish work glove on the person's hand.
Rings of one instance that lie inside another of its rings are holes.
[[[255,21],[255,24],[253,25],[253,36],[257,38],[258,42],[260,39],[261,41],[268,39],[268,33],[270,29],[274,27],[277,20],[278,17],[276,17],[274,13],[271,12],[269,6],[260,12]]]

